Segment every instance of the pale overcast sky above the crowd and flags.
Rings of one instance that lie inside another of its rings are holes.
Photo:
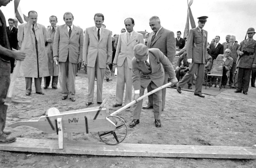
[[[119,34],[124,26],[124,19],[132,17],[135,31],[152,32],[149,18],[158,16],[161,25],[174,32],[181,31],[182,37],[187,19],[187,0],[20,0],[23,14],[29,10],[38,13],[37,23],[45,27],[50,25],[49,17],[58,17],[57,25],[65,24],[63,14],[73,13],[73,24],[83,30],[94,26],[94,14],[102,13],[106,28],[114,34]],[[14,18],[14,2],[0,8],[6,18]],[[204,30],[208,32],[208,42],[215,36],[220,36],[220,42],[225,42],[227,34],[235,35],[240,43],[244,40],[249,27],[256,28],[256,0],[194,0],[191,5],[196,25],[200,16],[208,16]],[[254,37],[256,39],[256,36]]]

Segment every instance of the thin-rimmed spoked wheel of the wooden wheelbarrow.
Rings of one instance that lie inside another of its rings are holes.
[[[115,125],[116,129],[113,131],[100,131],[98,132],[101,141],[108,145],[116,145],[121,143],[127,135],[127,126],[124,120],[118,116],[108,116]]]

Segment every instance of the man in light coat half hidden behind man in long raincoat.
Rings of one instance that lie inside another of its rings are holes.
[[[48,69],[49,76],[44,77],[44,89],[47,89],[51,82],[52,76],[52,88],[57,89],[58,85],[58,75],[59,75],[59,67],[56,65],[56,62],[53,62],[53,41],[56,32],[56,24],[58,23],[57,17],[52,15],[49,17],[51,26],[46,28],[47,39],[46,39],[46,49],[48,55]]]

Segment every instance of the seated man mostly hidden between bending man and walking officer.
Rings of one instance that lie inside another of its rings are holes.
[[[189,71],[189,63],[187,58],[187,52],[184,52],[183,54],[180,55],[179,59],[176,62],[175,73],[178,81],[180,81],[180,79],[188,71]],[[192,84],[193,84],[193,78],[191,78],[191,80],[188,81],[188,89],[192,89]]]

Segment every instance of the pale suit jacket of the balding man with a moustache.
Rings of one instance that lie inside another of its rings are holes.
[[[130,40],[127,42],[127,32],[120,34],[117,47],[116,55],[113,64],[121,67],[124,63],[125,58],[128,61],[128,67],[132,69],[132,58],[134,57],[133,47],[136,44],[144,43],[143,35],[133,31]]]

